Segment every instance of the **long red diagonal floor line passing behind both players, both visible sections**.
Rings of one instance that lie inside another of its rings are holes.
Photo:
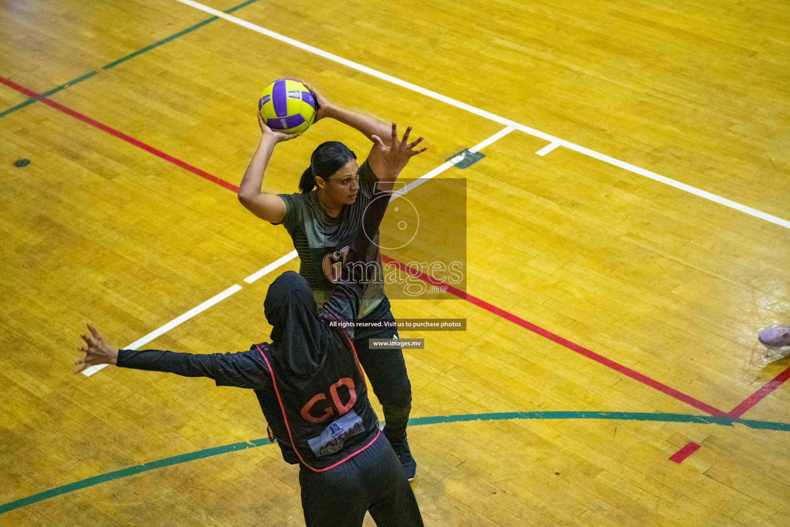
[[[5,77],[0,77],[0,83],[4,84],[6,86],[9,86],[9,88],[13,88],[13,89],[17,90],[18,92],[24,93],[24,95],[27,95],[27,96],[30,96],[30,97],[37,97],[37,96],[39,96],[36,92],[32,92],[28,88],[24,88],[21,85],[17,85],[17,83],[15,83],[13,81],[9,81],[9,79],[6,79]],[[224,186],[228,190],[233,190],[234,192],[238,192],[239,191],[239,187],[238,186],[235,186],[235,185],[233,185],[231,183],[228,183],[227,181],[224,181],[223,179],[219,179],[219,178],[209,174],[208,172],[205,172],[205,171],[202,171],[199,168],[193,167],[192,165],[187,164],[187,163],[183,162],[182,160],[178,160],[178,159],[176,159],[173,156],[169,156],[166,153],[162,152],[161,150],[155,149],[155,148],[153,148],[150,145],[146,145],[145,143],[143,143],[141,141],[137,141],[137,139],[134,139],[134,137],[130,137],[130,136],[126,135],[126,134],[123,134],[122,132],[119,132],[119,130],[115,130],[114,128],[111,128],[110,126],[104,125],[101,122],[98,122],[98,121],[96,121],[94,119],[91,119],[87,115],[83,115],[83,114],[79,113],[78,111],[73,111],[72,109],[63,106],[62,104],[58,104],[55,101],[48,99],[47,97],[44,97],[43,99],[41,99],[41,102],[43,102],[44,104],[47,104],[50,107],[55,108],[58,111],[62,111],[63,113],[65,113],[67,115],[71,115],[75,119],[79,119],[82,122],[85,122],[85,123],[87,123],[87,124],[89,124],[91,126],[95,126],[99,130],[103,130],[104,132],[107,132],[107,134],[112,134],[115,137],[119,137],[119,139],[122,139],[123,141],[126,141],[126,142],[130,143],[131,145],[135,145],[135,146],[137,146],[137,147],[139,147],[141,149],[144,149],[146,152],[150,152],[150,153],[154,154],[155,156],[158,156],[158,157],[160,157],[160,158],[162,158],[164,160],[167,160],[167,161],[169,161],[169,162],[171,162],[173,164],[178,165],[181,168],[185,168],[186,170],[188,170],[188,171],[190,171],[190,172],[192,172],[192,173],[194,173],[196,175],[201,176],[201,178],[208,179],[209,181],[211,181],[213,183],[216,183],[216,184],[218,184],[220,186]],[[393,260],[392,258],[388,258],[388,257],[386,257],[383,254],[382,254],[382,260],[384,260],[385,262],[393,263],[395,265],[400,265],[401,269],[407,270],[406,265],[402,264],[401,262],[397,262],[396,260]],[[551,331],[548,331],[547,329],[543,329],[540,326],[536,326],[535,324],[532,324],[532,322],[527,322],[523,318],[519,318],[516,315],[514,315],[512,313],[509,313],[507,311],[504,311],[504,310],[502,310],[502,309],[500,309],[498,307],[495,307],[495,306],[491,305],[490,303],[485,302],[484,300],[476,298],[475,296],[468,295],[466,292],[463,292],[463,291],[461,291],[460,289],[457,289],[457,288],[453,288],[453,286],[451,286],[449,284],[444,284],[443,282],[438,282],[438,281],[434,280],[433,278],[428,277],[427,274],[422,273],[422,272],[420,272],[417,269],[408,268],[407,272],[412,274],[412,276],[419,276],[422,280],[430,281],[431,284],[436,284],[436,285],[442,284],[442,285],[445,285],[446,288],[447,288],[447,291],[451,292],[453,295],[456,295],[456,296],[458,296],[461,299],[466,299],[469,302],[475,304],[476,306],[482,307],[486,311],[490,311],[493,314],[497,314],[498,316],[500,316],[502,318],[505,318],[506,320],[509,320],[510,322],[513,322],[513,323],[515,323],[515,324],[517,324],[517,325],[519,325],[519,326],[521,326],[521,327],[523,327],[525,329],[529,329],[530,331],[540,335],[541,337],[545,337],[548,340],[553,341],[556,344],[560,344],[561,346],[564,346],[565,348],[568,348],[568,349],[570,349],[573,352],[577,352],[580,355],[583,355],[583,356],[585,356],[585,357],[587,357],[589,359],[595,360],[597,363],[603,364],[604,366],[611,368],[612,370],[618,371],[619,373],[621,373],[623,375],[626,375],[626,376],[628,376],[630,378],[633,378],[634,380],[636,380],[638,382],[641,382],[645,386],[650,386],[651,388],[653,388],[655,390],[658,390],[661,393],[665,393],[666,395],[668,395],[670,397],[674,397],[678,401],[682,401],[682,402],[686,403],[687,405],[693,406],[694,408],[698,408],[698,409],[702,410],[703,412],[709,413],[712,416],[724,416],[725,415],[724,412],[722,412],[718,408],[713,408],[713,406],[711,406],[711,405],[706,405],[704,402],[699,401],[698,399],[694,399],[694,397],[690,397],[690,396],[686,395],[685,393],[679,392],[678,390],[675,390],[674,388],[671,388],[670,386],[667,386],[667,385],[665,385],[665,384],[663,384],[661,382],[658,382],[658,381],[656,381],[656,380],[654,380],[652,378],[649,378],[646,375],[642,375],[638,371],[634,371],[634,370],[630,369],[629,367],[623,366],[620,363],[615,363],[614,360],[608,359],[608,358],[606,358],[606,357],[604,357],[602,355],[599,355],[596,352],[592,352],[591,350],[580,346],[579,344],[575,344],[574,342],[568,341],[565,338],[559,337],[559,335],[556,335],[555,333],[551,333]]]

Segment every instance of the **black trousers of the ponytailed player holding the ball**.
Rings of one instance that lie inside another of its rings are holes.
[[[368,318],[393,320],[389,309],[389,299],[382,301],[380,308]],[[359,357],[373,393],[384,408],[384,434],[389,442],[400,441],[406,433],[408,414],[412,411],[412,383],[408,381],[406,363],[401,348],[371,349],[368,339],[399,337],[397,329],[357,331],[354,335],[354,348]]]

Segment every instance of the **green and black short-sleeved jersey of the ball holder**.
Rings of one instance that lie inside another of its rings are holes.
[[[318,201],[318,188],[307,194],[277,194],[285,201],[285,216],[282,224],[291,235],[299,254],[301,274],[310,284],[315,302],[322,306],[334,291],[334,283],[344,276],[343,265],[348,247],[362,229],[362,219],[370,205],[378,181],[367,160],[359,167],[359,192],[352,205],[343,205],[337,218],[329,217]],[[364,235],[364,234],[362,234]],[[367,265],[375,266],[364,289],[359,318],[374,318],[376,307],[384,299],[382,256],[378,252],[378,230],[367,250]],[[382,306],[383,307],[383,306]]]

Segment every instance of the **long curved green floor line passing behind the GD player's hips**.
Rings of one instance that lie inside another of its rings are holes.
[[[774,423],[772,421],[758,421],[751,419],[733,419],[732,417],[714,416],[690,416],[683,413],[647,413],[647,412],[500,412],[500,413],[471,413],[457,416],[431,416],[431,417],[412,417],[408,420],[408,426],[415,427],[423,424],[438,423],[461,423],[464,421],[496,421],[511,419],[604,419],[604,420],[630,420],[630,421],[660,421],[664,423],[700,423],[718,424],[722,426],[732,426],[733,423],[743,424],[749,428],[759,430],[790,431],[788,423]],[[148,472],[161,467],[179,465],[186,461],[203,459],[236,450],[246,450],[256,446],[272,444],[269,439],[254,439],[250,442],[234,442],[224,446],[214,446],[205,450],[197,450],[187,454],[165,457],[158,461],[151,461],[143,465],[134,465],[126,469],[107,472],[99,476],[92,476],[85,480],[75,481],[74,483],[51,488],[48,491],[30,495],[27,498],[14,500],[13,502],[0,505],[0,514],[9,510],[18,509],[31,503],[37,503],[44,499],[54,498],[55,496],[77,491],[81,488],[92,487],[93,485],[104,483],[105,481],[118,480],[126,476],[134,476],[141,472]]]

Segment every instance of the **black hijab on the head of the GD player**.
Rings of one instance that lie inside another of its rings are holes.
[[[272,282],[263,312],[272,325],[276,358],[291,375],[310,375],[321,366],[331,337],[317,316],[318,306],[307,280],[286,271]]]

